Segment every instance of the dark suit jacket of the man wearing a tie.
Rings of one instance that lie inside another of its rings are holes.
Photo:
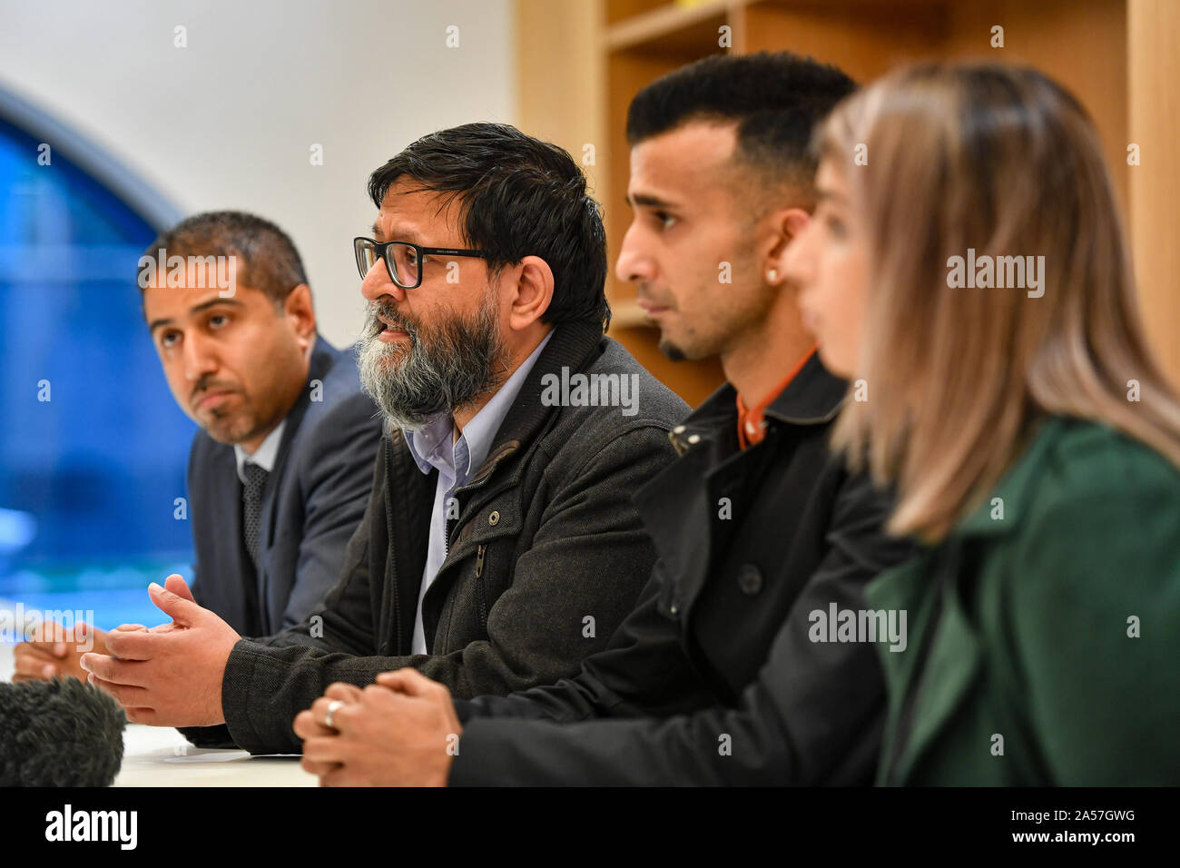
[[[373,485],[381,418],[356,363],[316,337],[262,501],[258,569],[242,542],[234,448],[198,431],[189,457],[192,593],[242,635],[269,635],[319,608]]]

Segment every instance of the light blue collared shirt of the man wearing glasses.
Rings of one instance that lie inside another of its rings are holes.
[[[418,590],[418,609],[414,615],[414,638],[411,640],[412,654],[430,653],[426,648],[426,631],[422,627],[422,598],[431,582],[439,574],[442,561],[446,560],[446,513],[447,502],[457,488],[466,485],[471,477],[484,464],[487,451],[492,448],[496,432],[504,424],[512,402],[516,400],[520,386],[532,370],[540,351],[553,337],[553,329],[540,341],[527,359],[512,372],[496,394],[472,417],[459,439],[454,439],[454,419],[451,413],[440,413],[417,431],[404,431],[409,455],[418,469],[430,474],[431,468],[439,471],[438,485],[434,488],[434,505],[431,508],[430,546],[426,549],[426,568],[422,570],[422,585]],[[453,445],[452,445],[453,442]],[[458,507],[455,507],[458,509]]]

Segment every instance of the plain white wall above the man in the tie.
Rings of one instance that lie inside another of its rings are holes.
[[[91,138],[183,214],[286,229],[321,331],[362,301],[368,174],[432,130],[514,123],[511,0],[0,0],[0,87]],[[173,45],[186,28],[188,47]],[[447,47],[457,26],[459,46]],[[323,145],[323,165],[309,148]]]

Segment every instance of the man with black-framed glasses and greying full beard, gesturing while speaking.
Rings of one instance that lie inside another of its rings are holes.
[[[155,587],[173,624],[83,658],[132,722],[224,723],[249,751],[297,752],[291,720],[333,681],[412,666],[458,696],[548,684],[605,645],[647,580],[630,495],[673,461],[688,409],[603,335],[604,233],[577,164],[467,124],[411,144],[369,195],[360,367],[388,431],[341,579],[322,614],[256,640],[178,576]],[[625,379],[636,400],[543,400],[573,374]]]

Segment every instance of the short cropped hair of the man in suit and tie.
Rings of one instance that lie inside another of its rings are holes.
[[[261,289],[275,305],[307,283],[295,242],[269,220],[247,211],[204,211],[185,217],[160,233],[144,255],[156,260],[160,248],[166,256],[236,256],[235,279]]]

